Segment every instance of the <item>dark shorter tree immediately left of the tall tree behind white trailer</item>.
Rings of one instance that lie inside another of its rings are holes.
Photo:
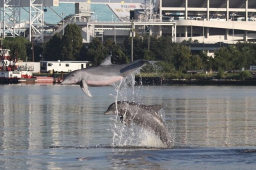
[[[44,58],[48,61],[57,61],[62,59],[61,44],[62,41],[60,35],[54,34],[54,36],[45,44]]]

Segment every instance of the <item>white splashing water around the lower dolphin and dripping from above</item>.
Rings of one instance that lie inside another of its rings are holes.
[[[135,93],[135,74],[140,75],[140,71],[124,78],[121,82],[115,83],[113,86],[116,91],[115,103],[117,113],[117,101],[129,101],[130,94],[132,94],[130,101],[135,102],[135,99],[140,99],[141,96]],[[132,88],[130,88],[132,87]],[[140,83],[138,90],[142,87]],[[132,90],[132,91],[131,91]],[[113,95],[114,96],[114,95]],[[140,113],[138,113],[140,114]],[[135,146],[135,147],[154,147],[166,148],[165,144],[154,132],[150,132],[145,128],[139,127],[134,123],[129,126],[121,123],[119,115],[116,114],[116,119],[112,125],[111,131],[113,132],[113,147]]]

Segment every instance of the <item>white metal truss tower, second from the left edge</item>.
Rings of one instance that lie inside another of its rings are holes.
[[[44,42],[44,0],[30,0],[29,41]]]

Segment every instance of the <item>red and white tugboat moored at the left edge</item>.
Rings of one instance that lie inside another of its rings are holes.
[[[11,59],[10,50],[3,49],[3,39],[0,38],[0,83],[18,83],[21,79],[31,79],[33,69],[18,66],[17,59]]]

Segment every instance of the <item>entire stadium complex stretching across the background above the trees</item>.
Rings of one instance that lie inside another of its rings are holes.
[[[19,0],[9,2],[14,1]],[[26,1],[29,0],[21,2]],[[45,0],[45,3],[35,0],[41,10],[34,15],[29,12],[31,5],[15,6],[6,2],[2,0],[0,4],[2,37],[22,35],[46,42],[55,33],[62,34],[67,24],[75,22],[82,30],[84,43],[91,42],[93,37],[102,41],[113,38],[122,43],[132,29],[139,35],[170,35],[174,42],[232,44],[256,39],[255,0]],[[20,20],[11,14],[4,18],[15,8],[20,9]],[[36,21],[31,23],[29,19],[33,17]]]

